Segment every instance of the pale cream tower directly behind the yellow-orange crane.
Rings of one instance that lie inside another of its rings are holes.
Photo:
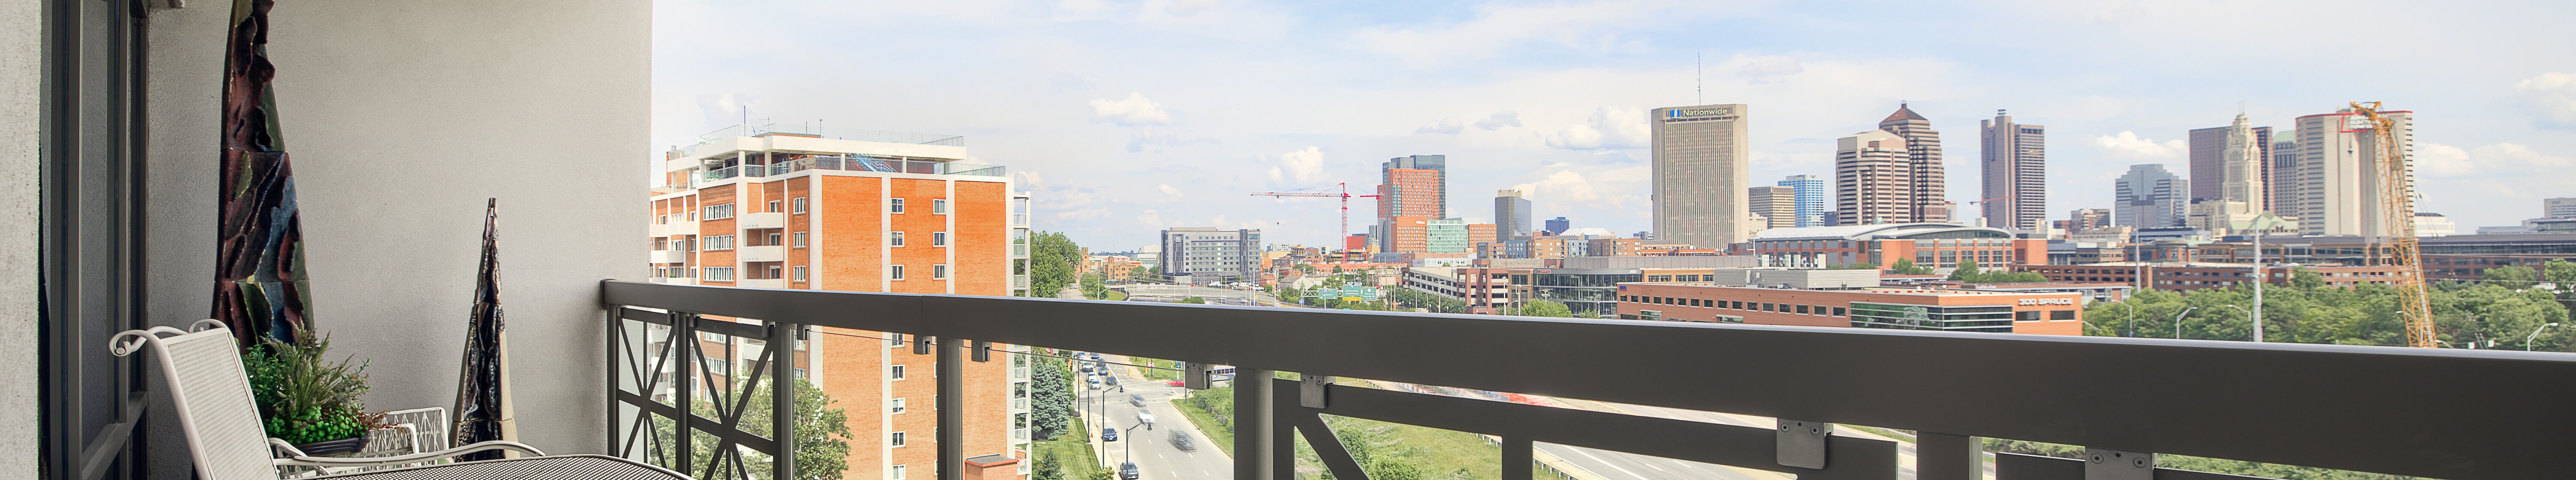
[[[2396,150],[2414,163],[2414,114],[2380,111],[2396,121]],[[2303,235],[2388,235],[2380,214],[2380,163],[2375,126],[2352,108],[2298,116],[2298,188],[2287,201]],[[2414,178],[2403,178],[2414,191]],[[2285,214],[2290,217],[2290,214]]]

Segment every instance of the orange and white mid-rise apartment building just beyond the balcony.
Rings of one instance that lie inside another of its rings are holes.
[[[652,281],[837,289],[899,294],[1025,294],[1028,196],[999,165],[966,163],[966,139],[744,124],[703,134],[665,155],[662,186],[647,199]],[[1048,292],[1051,297],[1051,292]],[[933,465],[938,408],[933,359],[891,348],[891,333],[819,328],[799,374],[850,410],[853,439],[922,431],[904,449],[853,449],[866,470]],[[1025,351],[1025,346],[1005,346]],[[966,364],[969,452],[1028,459],[1028,377],[1012,361]],[[902,372],[917,372],[907,382]],[[909,403],[907,397],[917,400]],[[863,415],[899,410],[899,415]],[[1005,421],[1023,418],[1023,421]],[[1023,462],[1025,465],[1025,462]],[[984,472],[994,475],[994,472]],[[1025,475],[1025,470],[1020,470]]]

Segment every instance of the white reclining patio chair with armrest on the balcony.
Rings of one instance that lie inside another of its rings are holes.
[[[536,446],[518,441],[479,441],[456,449],[397,457],[309,457],[294,444],[268,439],[260,428],[260,408],[250,397],[250,377],[242,369],[242,351],[222,320],[198,320],[196,333],[178,328],[124,330],[108,338],[108,354],[126,356],[144,346],[160,354],[162,374],[170,379],[170,405],[178,410],[180,434],[188,436],[188,454],[204,480],[281,480],[278,467],[386,467],[448,459],[471,452],[520,452],[538,457],[487,459],[399,467],[379,472],[353,472],[330,477],[410,480],[410,477],[600,477],[600,480],[688,480],[654,465],[641,465],[600,454],[544,457]],[[273,457],[270,449],[283,452]]]

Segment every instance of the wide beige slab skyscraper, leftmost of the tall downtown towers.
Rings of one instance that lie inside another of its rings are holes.
[[[1654,137],[1654,237],[1728,248],[1752,232],[1747,108],[1672,106],[1646,116]]]

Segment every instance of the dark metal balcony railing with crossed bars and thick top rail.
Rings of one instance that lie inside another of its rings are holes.
[[[938,465],[958,449],[969,343],[1105,351],[1234,364],[1236,480],[1291,480],[1291,434],[1334,477],[1365,477],[1319,415],[1373,418],[1497,436],[1504,465],[1533,441],[1790,472],[1801,480],[1893,480],[1899,444],[1832,436],[1832,423],[1917,431],[1919,480],[1981,475],[1978,436],[2089,446],[2138,462],[1996,454],[1999,480],[2226,477],[2154,467],[2154,454],[2419,475],[2450,480],[2566,477],[2566,385],[2576,354],[2388,346],[2233,343],[1785,328],[1716,323],[1414,315],[1141,305],[1090,299],[866,294],[605,281],[618,307],[611,359],[649,325],[721,328],[783,341],[799,325],[938,338]],[[649,307],[649,310],[647,310]],[[654,312],[665,310],[665,312]],[[863,312],[863,315],[853,315]],[[696,315],[760,317],[708,323]],[[649,325],[647,325],[649,323]],[[974,341],[956,341],[974,338]],[[922,346],[917,346],[922,348]],[[631,348],[626,348],[631,351]],[[981,351],[981,348],[979,348]],[[976,354],[974,361],[987,361]],[[1007,361],[1007,359],[1005,359]],[[760,366],[757,372],[783,366]],[[626,379],[644,366],[618,364]],[[1301,372],[1298,379],[1270,379]],[[1448,390],[1525,392],[1780,418],[1783,428],[1540,408],[1476,397],[1332,385],[1358,377]],[[680,382],[690,385],[690,382]],[[649,392],[649,390],[634,390]],[[677,397],[690,397],[688,387]],[[672,423],[667,405],[621,385],[621,428]],[[786,415],[788,408],[778,408]],[[2372,421],[2378,418],[2378,421]],[[773,426],[786,423],[773,421]],[[683,428],[729,446],[788,441],[714,418]],[[1816,426],[1816,428],[1795,428]],[[688,439],[688,436],[677,436]],[[621,434],[618,454],[641,454]],[[1329,446],[1329,449],[1327,449]],[[688,452],[688,449],[680,449]],[[2136,467],[2143,465],[2143,467]],[[688,465],[683,465],[688,467]],[[698,465],[706,467],[706,465]],[[2123,472],[2128,470],[2128,472]],[[1504,467],[1504,480],[1528,480]],[[945,477],[945,475],[943,475]]]

